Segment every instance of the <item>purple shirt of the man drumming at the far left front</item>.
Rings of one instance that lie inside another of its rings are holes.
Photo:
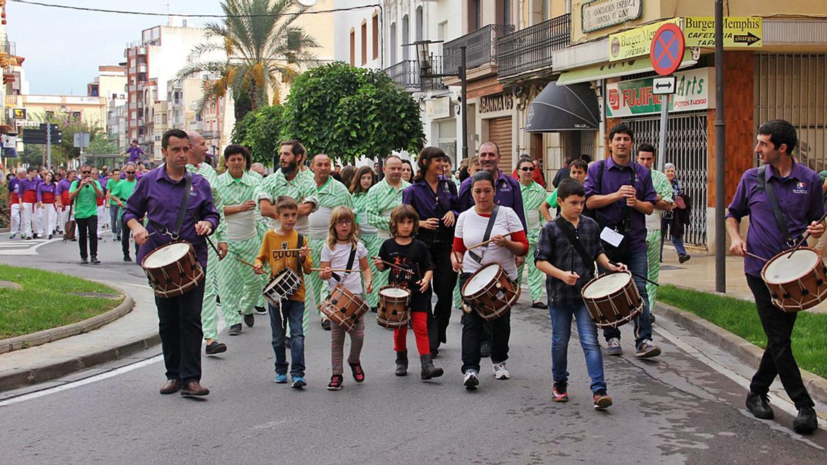
[[[213,191],[210,190],[209,182],[202,176],[193,175],[193,185],[189,190],[189,213],[184,215],[184,224],[181,226],[179,239],[193,244],[198,262],[207,270],[207,240],[198,236],[195,232],[196,219],[208,221],[213,225],[213,231],[218,228],[218,210],[213,204]],[[152,222],[159,223],[172,230],[175,221],[178,219],[178,211],[181,206],[181,195],[184,194],[185,180],[178,182],[170,179],[166,174],[165,165],[151,170],[138,181],[135,192],[127,200],[127,208],[123,211],[123,223],[130,219],[141,221],[146,213],[150,222],[146,229],[149,232],[155,231]],[[195,217],[195,218],[194,218]],[[144,245],[138,250],[137,262],[141,263],[146,254],[155,248],[171,242],[172,238],[156,232],[151,235]]]

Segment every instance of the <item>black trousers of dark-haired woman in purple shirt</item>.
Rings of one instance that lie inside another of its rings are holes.
[[[433,318],[428,319],[428,341],[431,352],[439,348],[447,339],[448,323],[451,321],[454,285],[457,284],[457,271],[451,266],[451,246],[447,244],[428,243],[433,261],[433,293],[437,295],[437,304],[433,306]]]

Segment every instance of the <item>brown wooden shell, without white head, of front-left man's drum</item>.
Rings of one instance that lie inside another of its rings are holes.
[[[164,266],[151,268],[146,266],[146,261],[153,254],[175,244],[186,244],[189,247],[189,251],[177,261],[173,261]],[[143,260],[141,260],[141,268],[146,273],[146,277],[149,278],[155,295],[165,299],[184,295],[190,290],[194,290],[198,287],[198,282],[203,280],[204,277],[201,264],[198,263],[198,259],[195,256],[193,245],[184,241],[167,242],[160,247],[155,247],[155,249],[147,253]]]

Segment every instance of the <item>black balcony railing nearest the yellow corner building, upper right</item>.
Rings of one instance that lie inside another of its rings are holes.
[[[570,24],[571,15],[565,14],[498,38],[499,77],[510,77],[551,66],[552,51],[569,46]]]

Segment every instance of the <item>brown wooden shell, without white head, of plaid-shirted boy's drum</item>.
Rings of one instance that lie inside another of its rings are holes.
[[[586,283],[581,290],[586,309],[589,310],[591,319],[595,320],[598,328],[617,328],[629,323],[643,312],[643,299],[640,298],[638,286],[634,284],[632,275],[627,271],[621,272],[629,275],[629,282],[609,295],[586,297],[586,289],[601,278],[615,273],[597,276]]]

